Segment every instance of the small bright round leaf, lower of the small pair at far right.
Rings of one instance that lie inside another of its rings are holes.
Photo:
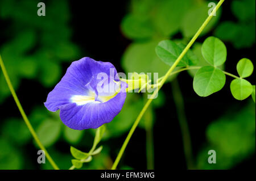
[[[230,83],[230,90],[234,98],[237,100],[246,99],[253,92],[253,86],[245,79],[234,79]]]

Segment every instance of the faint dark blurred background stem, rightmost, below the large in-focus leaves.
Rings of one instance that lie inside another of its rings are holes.
[[[189,127],[187,123],[187,118],[185,116],[184,100],[179,87],[179,82],[177,81],[177,79],[174,79],[174,81],[171,82],[171,85],[172,85],[172,94],[174,98],[174,103],[176,106],[177,118],[180,124],[180,131],[181,131],[181,136],[183,140],[183,149],[184,149],[185,160],[187,163],[187,168],[195,169],[193,164],[193,154],[192,154]]]

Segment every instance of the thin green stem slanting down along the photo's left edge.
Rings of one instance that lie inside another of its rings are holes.
[[[49,155],[48,151],[46,150],[46,148],[44,148],[42,142],[40,142],[38,136],[36,135],[36,132],[34,130],[34,128],[32,127],[32,125],[30,124],[30,121],[28,120],[27,118],[27,115],[26,113],[24,112],[20,102],[19,102],[19,99],[18,99],[18,96],[16,95],[15,93],[15,90],[13,88],[13,85],[11,84],[11,81],[10,81],[10,78],[9,78],[9,75],[6,71],[6,68],[5,68],[5,65],[3,64],[3,60],[2,60],[2,57],[0,55],[0,66],[2,68],[2,71],[3,71],[3,75],[5,76],[5,79],[6,79],[6,82],[7,82],[7,85],[11,91],[11,94],[13,95],[13,98],[15,100],[15,103],[17,105],[17,107],[19,108],[19,112],[21,113],[30,133],[32,134],[32,136],[34,137],[36,143],[38,144],[39,148],[41,150],[44,150],[44,153],[46,153],[46,158],[48,159],[48,161],[51,163],[53,169],[55,170],[59,170],[59,167],[56,165],[56,163],[53,161],[53,159],[51,158],[51,156]]]

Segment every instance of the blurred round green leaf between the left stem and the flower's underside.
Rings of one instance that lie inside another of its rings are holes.
[[[59,120],[47,119],[43,121],[39,127],[36,129],[39,140],[46,147],[54,144],[59,136],[61,131],[61,123]]]

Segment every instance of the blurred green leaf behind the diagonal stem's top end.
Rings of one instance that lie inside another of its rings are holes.
[[[181,32],[185,37],[192,37],[195,35],[199,27],[204,23],[205,19],[208,17],[208,4],[206,2],[199,2],[197,6],[191,6],[184,18],[181,21]],[[216,12],[216,16],[210,20],[208,25],[201,32],[200,36],[205,35],[209,32],[213,26],[218,22],[221,16],[221,9]]]

